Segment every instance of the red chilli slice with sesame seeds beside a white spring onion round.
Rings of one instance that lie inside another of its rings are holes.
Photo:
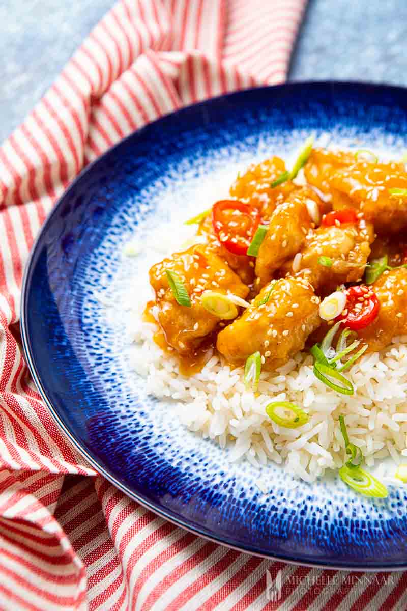
[[[347,288],[345,309],[346,316],[338,316],[338,320],[344,320],[352,331],[359,331],[369,326],[375,320],[380,310],[380,301],[376,293],[364,285]]]

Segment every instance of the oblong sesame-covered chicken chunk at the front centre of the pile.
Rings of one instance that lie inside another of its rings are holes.
[[[242,316],[218,334],[217,349],[237,365],[259,351],[262,369],[272,371],[304,348],[321,322],[318,308],[319,298],[306,280],[272,280]]]

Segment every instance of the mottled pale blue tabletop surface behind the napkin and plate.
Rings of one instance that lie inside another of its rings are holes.
[[[0,141],[113,2],[0,0]],[[289,79],[406,84],[406,34],[407,0],[309,0]]]

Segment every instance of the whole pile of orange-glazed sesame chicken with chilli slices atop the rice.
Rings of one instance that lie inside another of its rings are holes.
[[[257,355],[273,371],[341,333],[351,364],[407,334],[401,161],[311,145],[292,170],[276,156],[253,164],[229,199],[196,212],[196,240],[149,271],[157,343],[184,375],[214,353],[232,367]]]

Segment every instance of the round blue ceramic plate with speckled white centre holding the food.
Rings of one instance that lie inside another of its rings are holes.
[[[290,488],[290,476],[270,465],[273,489],[265,496],[250,464],[229,464],[228,450],[189,433],[168,403],[147,395],[126,359],[124,303],[116,301],[106,318],[111,287],[128,282],[130,294],[137,275],[138,258],[123,256],[129,238],[148,244],[174,210],[189,218],[209,207],[209,186],[225,188],[254,159],[284,158],[310,133],[320,144],[360,142],[400,157],[407,90],[356,83],[253,89],[185,108],[112,148],[74,181],[41,230],[24,282],[24,349],[71,441],[118,488],[165,518],[267,557],[406,568],[403,489],[372,500],[334,477]]]

